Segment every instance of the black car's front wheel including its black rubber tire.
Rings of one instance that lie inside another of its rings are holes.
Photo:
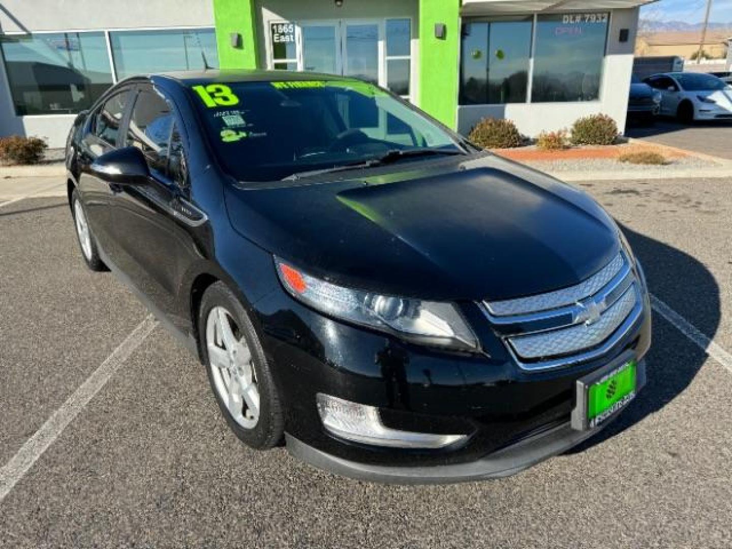
[[[277,446],[284,421],[275,380],[249,315],[224,283],[203,294],[198,334],[209,382],[228,426],[249,447]]]

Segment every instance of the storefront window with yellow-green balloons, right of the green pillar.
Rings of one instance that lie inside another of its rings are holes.
[[[526,102],[531,31],[531,18],[463,25],[461,105]]]

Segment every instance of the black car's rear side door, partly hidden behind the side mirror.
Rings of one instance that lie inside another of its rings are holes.
[[[124,86],[111,94],[86,119],[83,137],[79,143],[78,163],[80,176],[78,190],[89,219],[91,232],[97,244],[110,256],[116,255],[111,202],[115,188],[89,172],[89,165],[105,152],[119,145],[120,132],[130,106],[133,86]]]

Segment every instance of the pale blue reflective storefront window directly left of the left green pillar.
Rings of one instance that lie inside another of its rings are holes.
[[[110,39],[120,80],[150,72],[219,66],[214,29],[113,31]]]

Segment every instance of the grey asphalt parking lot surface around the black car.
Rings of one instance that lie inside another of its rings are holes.
[[[732,179],[581,185],[626,228],[663,313],[649,384],[583,447],[431,487],[243,447],[203,367],[160,327],[142,337],[143,306],[83,266],[63,198],[0,206],[0,466],[100,365],[110,374],[0,492],[0,546],[732,546]]]

